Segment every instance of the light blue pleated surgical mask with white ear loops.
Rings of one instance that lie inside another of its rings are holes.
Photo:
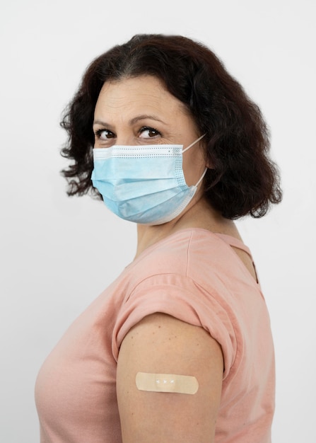
[[[202,137],[185,150],[180,144],[93,149],[93,186],[122,219],[149,225],[170,222],[187,207],[207,171],[196,185],[185,183],[182,154]]]

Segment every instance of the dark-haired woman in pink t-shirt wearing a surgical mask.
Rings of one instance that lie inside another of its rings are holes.
[[[136,35],[62,126],[69,195],[101,195],[138,241],[40,370],[41,442],[270,442],[269,314],[233,223],[281,201],[259,109],[204,45]]]

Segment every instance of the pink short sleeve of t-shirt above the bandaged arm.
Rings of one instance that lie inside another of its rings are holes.
[[[237,345],[233,323],[218,298],[182,275],[146,278],[133,289],[119,310],[112,335],[113,356],[117,360],[122,340],[139,321],[152,313],[165,313],[204,328],[221,345],[225,379],[233,365]]]

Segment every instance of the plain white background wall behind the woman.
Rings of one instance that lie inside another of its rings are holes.
[[[43,359],[134,256],[132,224],[89,197],[66,197],[59,120],[87,64],[135,33],[204,42],[271,127],[283,203],[238,226],[271,313],[273,442],[315,443],[315,1],[1,0],[0,8],[1,443],[39,442],[33,388]]]

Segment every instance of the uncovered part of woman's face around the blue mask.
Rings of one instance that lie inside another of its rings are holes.
[[[117,145],[182,144],[197,133],[185,106],[154,76],[107,81],[95,105],[95,148]],[[200,142],[183,154],[187,185],[195,185],[206,163]]]

